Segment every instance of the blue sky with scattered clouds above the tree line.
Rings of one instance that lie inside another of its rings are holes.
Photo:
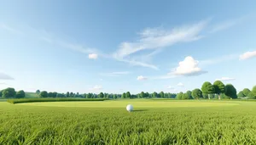
[[[1,1],[0,89],[184,92],[256,82],[255,1]]]

